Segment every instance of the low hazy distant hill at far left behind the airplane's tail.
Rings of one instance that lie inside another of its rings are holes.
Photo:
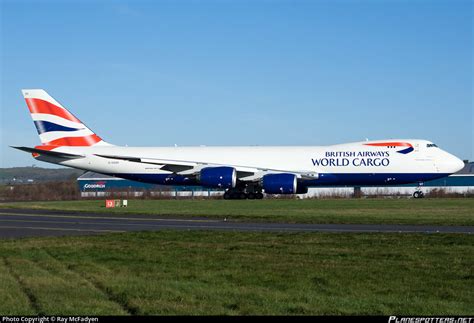
[[[0,168],[0,184],[27,184],[75,180],[84,171],[72,168]]]

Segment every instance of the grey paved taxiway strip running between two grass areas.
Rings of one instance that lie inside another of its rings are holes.
[[[0,238],[156,231],[163,229],[272,232],[474,233],[474,226],[248,223],[224,221],[224,219],[0,209]]]

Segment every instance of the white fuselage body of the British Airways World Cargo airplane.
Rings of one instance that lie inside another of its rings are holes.
[[[123,174],[170,174],[154,163],[137,163],[97,156],[112,155],[206,166],[225,165],[244,171],[257,169],[318,175],[387,174],[386,184],[390,184],[390,178],[400,174],[430,174],[430,176],[439,174],[437,177],[443,177],[458,171],[463,166],[458,158],[437,148],[429,141],[412,139],[397,141],[409,142],[413,146],[413,151],[403,154],[399,152],[400,147],[368,145],[383,141],[307,147],[61,147],[62,152],[80,153],[85,155],[85,158],[60,161],[59,164],[98,173],[115,174],[119,177]],[[49,157],[40,159],[57,162]],[[422,180],[424,179],[420,177],[414,181]]]

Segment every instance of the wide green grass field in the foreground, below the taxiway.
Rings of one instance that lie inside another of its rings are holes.
[[[474,236],[161,231],[0,241],[0,313],[473,315]]]

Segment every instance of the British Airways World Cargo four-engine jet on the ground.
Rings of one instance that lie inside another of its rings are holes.
[[[448,176],[459,158],[420,139],[330,146],[123,147],[99,137],[42,89],[22,90],[41,145],[12,146],[37,160],[161,185],[225,190],[224,199],[305,194],[318,186],[386,186]],[[414,197],[422,197],[417,190]]]

